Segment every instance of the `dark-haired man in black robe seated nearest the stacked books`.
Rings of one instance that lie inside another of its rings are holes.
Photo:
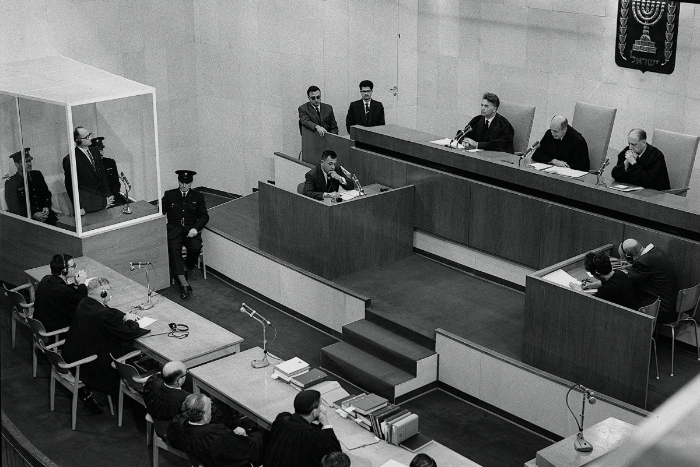
[[[321,408],[320,392],[299,392],[294,398],[294,412],[282,412],[272,423],[265,467],[321,465],[323,456],[342,450]]]

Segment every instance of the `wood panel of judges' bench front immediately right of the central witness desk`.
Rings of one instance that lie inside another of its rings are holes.
[[[416,187],[414,227],[469,245],[472,182],[412,164],[407,167],[408,183]]]

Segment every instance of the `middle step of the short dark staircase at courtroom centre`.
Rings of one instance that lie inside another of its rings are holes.
[[[343,341],[391,362],[413,376],[417,375],[418,362],[435,354],[434,351],[366,319],[343,326]]]

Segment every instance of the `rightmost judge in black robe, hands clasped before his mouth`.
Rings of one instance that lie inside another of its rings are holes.
[[[659,191],[671,188],[664,153],[647,143],[646,131],[630,131],[627,143],[628,148],[617,155],[617,165],[611,172],[613,178],[620,183]]]

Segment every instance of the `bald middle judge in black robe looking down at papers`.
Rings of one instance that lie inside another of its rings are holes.
[[[540,140],[532,160],[586,172],[591,167],[586,140],[561,115],[552,118],[549,131]]]

